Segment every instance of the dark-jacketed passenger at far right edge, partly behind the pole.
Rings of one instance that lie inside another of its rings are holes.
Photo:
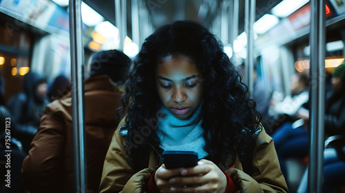
[[[328,97],[325,109],[325,134],[328,136],[345,136],[345,63],[333,72],[333,92]],[[309,113],[299,114],[304,120],[309,120]],[[324,192],[335,192],[336,187],[345,185],[345,140],[332,143],[324,150]],[[307,192],[308,169],[304,172],[298,193]]]

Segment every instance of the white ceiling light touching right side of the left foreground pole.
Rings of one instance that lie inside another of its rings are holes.
[[[81,19],[83,19],[83,23],[87,26],[96,26],[104,20],[98,12],[92,10],[92,8],[84,2],[81,2]]]

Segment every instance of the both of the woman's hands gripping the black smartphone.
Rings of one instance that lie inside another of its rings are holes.
[[[215,163],[201,159],[189,168],[167,170],[164,165],[155,173],[155,183],[160,192],[220,192],[228,183],[226,175]]]

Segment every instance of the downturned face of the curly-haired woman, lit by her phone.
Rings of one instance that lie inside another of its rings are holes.
[[[177,119],[187,119],[202,101],[201,74],[184,55],[168,56],[157,65],[159,99]]]

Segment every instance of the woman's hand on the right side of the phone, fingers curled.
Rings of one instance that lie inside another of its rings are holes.
[[[215,163],[201,159],[197,166],[181,170],[180,176],[169,179],[172,192],[224,193],[228,180]]]

